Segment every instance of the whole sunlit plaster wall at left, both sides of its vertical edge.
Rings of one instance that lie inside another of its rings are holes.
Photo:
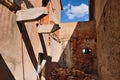
[[[41,1],[39,0],[23,0],[21,3],[21,9],[40,6]],[[15,80],[36,79],[35,67],[37,68],[37,64],[35,62],[38,59],[38,53],[43,52],[37,33],[36,23],[38,22],[27,22],[24,23],[25,26],[18,27],[16,14],[2,4],[0,4],[0,17],[0,54],[8,69]],[[33,61],[34,63],[30,58],[30,56],[33,56],[32,54],[36,59],[36,61]],[[33,64],[36,66],[34,67]],[[7,77],[7,74],[4,76]]]

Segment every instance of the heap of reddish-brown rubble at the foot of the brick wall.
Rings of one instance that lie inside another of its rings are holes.
[[[49,80],[98,80],[95,74],[86,74],[75,68],[56,68]]]

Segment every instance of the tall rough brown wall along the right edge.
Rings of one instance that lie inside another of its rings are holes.
[[[96,7],[97,9],[98,7]],[[97,12],[96,12],[97,13]],[[107,0],[97,27],[100,80],[120,79],[120,1]]]

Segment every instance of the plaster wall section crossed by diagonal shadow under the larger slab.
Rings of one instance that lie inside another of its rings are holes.
[[[42,0],[23,0],[21,9],[41,7]],[[34,12],[33,12],[34,15]],[[36,24],[39,21],[25,22],[22,28],[22,53],[24,80],[37,79],[38,54],[43,52]]]

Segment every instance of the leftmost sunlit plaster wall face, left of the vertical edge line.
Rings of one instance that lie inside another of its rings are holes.
[[[21,40],[21,34],[16,24],[16,15],[0,4],[0,55],[6,62],[14,79],[17,80],[23,79]],[[0,74],[1,79],[4,73]],[[7,77],[6,74],[4,76]]]

